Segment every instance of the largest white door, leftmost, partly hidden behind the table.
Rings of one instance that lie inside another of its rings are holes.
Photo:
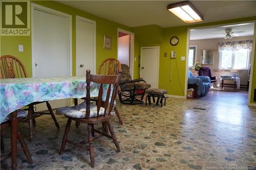
[[[33,77],[71,76],[71,16],[32,4]],[[50,101],[52,108],[69,106],[70,99]],[[46,104],[36,106],[47,110]]]

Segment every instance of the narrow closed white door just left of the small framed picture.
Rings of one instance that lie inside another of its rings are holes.
[[[96,74],[96,22],[76,16],[76,76]]]

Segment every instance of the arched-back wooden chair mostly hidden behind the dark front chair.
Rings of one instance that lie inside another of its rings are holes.
[[[121,72],[121,63],[115,58],[107,58],[105,59],[99,66],[98,75],[119,75]],[[86,100],[86,98],[82,98]],[[96,101],[97,98],[92,98],[91,101]],[[75,99],[75,105],[77,105],[77,99]],[[114,107],[115,113],[119,119],[119,123],[123,125],[121,116],[118,112],[118,109]],[[79,126],[79,123],[76,123],[76,127]]]

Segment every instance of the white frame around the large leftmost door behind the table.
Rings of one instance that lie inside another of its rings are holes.
[[[31,3],[31,49],[32,49],[32,77],[34,77],[34,72],[35,72],[35,68],[33,66],[34,64],[34,57],[35,57],[35,46],[34,46],[34,36],[33,36],[33,33],[34,33],[34,13],[33,11],[34,10],[39,10],[39,11],[42,11],[42,12],[47,12],[47,13],[50,13],[50,14],[55,14],[55,15],[58,15],[58,16],[61,16],[61,17],[64,17],[64,18],[67,18],[68,19],[68,64],[69,64],[69,67],[68,67],[68,74],[69,76],[72,76],[72,15],[69,15],[69,14],[66,14],[66,13],[63,13],[63,12],[59,12],[59,11],[56,11],[56,10],[53,10],[51,8],[47,8],[47,7],[44,7],[44,6],[40,6],[40,5],[37,5],[37,4],[34,4],[34,3]]]

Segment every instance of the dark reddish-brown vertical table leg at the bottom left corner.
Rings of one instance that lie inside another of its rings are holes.
[[[11,113],[11,157],[12,157],[12,170],[17,169],[17,111]]]

